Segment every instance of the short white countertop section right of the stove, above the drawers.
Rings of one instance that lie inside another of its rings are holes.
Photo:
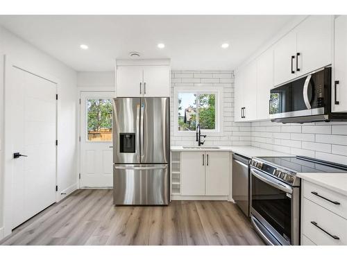
[[[347,196],[347,173],[296,173],[296,176]]]

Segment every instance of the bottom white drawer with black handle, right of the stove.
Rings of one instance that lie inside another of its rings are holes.
[[[307,198],[303,198],[301,225],[303,235],[316,245],[347,245],[347,220]]]

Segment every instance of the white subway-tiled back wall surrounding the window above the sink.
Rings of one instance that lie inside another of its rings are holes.
[[[223,87],[223,132],[208,135],[205,145],[250,146],[251,123],[234,122],[234,73],[233,71],[171,71],[171,145],[194,145],[195,136],[175,136],[174,132],[174,87],[201,86]]]

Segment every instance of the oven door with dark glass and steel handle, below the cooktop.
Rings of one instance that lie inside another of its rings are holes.
[[[293,187],[251,168],[251,214],[279,242],[271,243],[273,237],[261,232],[269,244],[292,244],[292,193]]]

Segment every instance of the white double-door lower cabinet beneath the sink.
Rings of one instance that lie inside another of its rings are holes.
[[[181,196],[228,196],[228,152],[182,152]]]

